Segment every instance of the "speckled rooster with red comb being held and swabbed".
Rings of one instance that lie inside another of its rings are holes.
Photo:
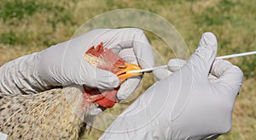
[[[91,65],[109,70],[123,82],[132,76],[128,70],[141,69],[103,48],[102,42],[90,47],[84,59]],[[0,132],[9,139],[79,139],[90,130],[94,115],[91,110],[110,108],[118,102],[113,90],[73,85],[55,88],[32,95],[5,95],[0,93]]]

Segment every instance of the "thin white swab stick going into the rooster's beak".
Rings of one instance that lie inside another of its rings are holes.
[[[256,54],[256,51],[247,52],[247,53],[237,53],[237,54],[224,55],[224,56],[219,56],[216,59],[230,59],[230,58],[236,58],[236,57],[240,57],[240,56],[247,56],[247,55],[253,55],[253,54]],[[159,69],[159,68],[167,68],[167,65],[160,65],[160,66],[156,66],[156,67],[148,68],[148,69],[143,69],[143,70],[130,70],[130,71],[127,71],[126,73],[141,73],[141,72],[146,72],[146,71],[152,71],[154,69]]]

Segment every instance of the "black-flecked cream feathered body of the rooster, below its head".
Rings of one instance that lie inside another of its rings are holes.
[[[82,91],[65,87],[33,95],[0,93],[0,132],[9,139],[79,139],[93,120],[88,111],[96,109],[96,104],[81,105]]]

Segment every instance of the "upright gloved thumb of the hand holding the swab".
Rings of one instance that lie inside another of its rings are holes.
[[[197,77],[207,78],[218,49],[217,39],[207,32],[201,36],[198,48],[186,64]]]

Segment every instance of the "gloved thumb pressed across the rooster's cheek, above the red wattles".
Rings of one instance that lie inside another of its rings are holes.
[[[81,61],[81,63],[80,75],[73,79],[74,83],[99,89],[110,89],[119,86],[119,78],[112,72],[98,69],[86,61]]]

